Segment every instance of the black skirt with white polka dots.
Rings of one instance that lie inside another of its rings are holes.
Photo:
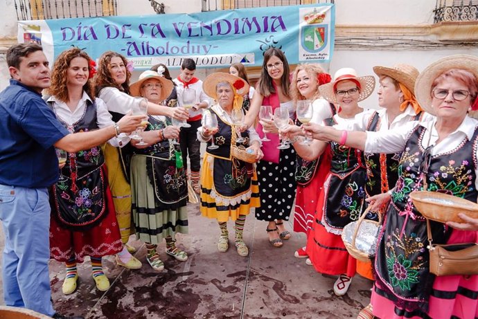
[[[295,150],[290,147],[280,150],[278,164],[267,161],[257,163],[260,191],[260,208],[256,208],[257,219],[289,220],[296,191],[295,161]]]

